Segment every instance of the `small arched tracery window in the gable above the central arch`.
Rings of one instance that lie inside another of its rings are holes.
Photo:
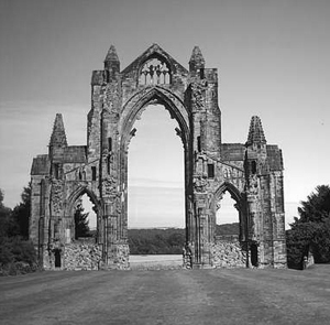
[[[170,84],[170,69],[165,61],[151,58],[141,68],[140,85],[166,85]]]

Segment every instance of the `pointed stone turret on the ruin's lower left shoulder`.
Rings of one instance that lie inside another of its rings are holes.
[[[57,113],[50,141],[50,158],[53,163],[62,162],[67,140],[62,113]]]

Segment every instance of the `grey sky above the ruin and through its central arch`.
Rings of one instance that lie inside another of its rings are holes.
[[[244,143],[257,115],[267,143],[282,148],[288,225],[300,201],[330,184],[329,17],[328,0],[0,0],[4,204],[20,202],[56,112],[69,144],[86,144],[91,72],[111,44],[121,69],[152,43],[188,67],[198,45],[206,67],[218,68],[223,142]],[[183,226],[182,143],[175,120],[153,108],[130,145],[129,226]],[[141,170],[141,160],[152,167]]]

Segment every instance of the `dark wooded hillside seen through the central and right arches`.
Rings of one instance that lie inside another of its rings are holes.
[[[239,235],[239,223],[217,225],[216,235]],[[179,254],[185,245],[185,229],[129,229],[131,254]]]

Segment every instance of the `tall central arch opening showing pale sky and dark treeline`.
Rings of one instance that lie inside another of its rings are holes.
[[[133,126],[136,136],[128,150],[131,256],[182,253],[185,162],[183,142],[175,134],[178,123],[169,118],[164,105],[150,104],[143,108],[146,109]]]

